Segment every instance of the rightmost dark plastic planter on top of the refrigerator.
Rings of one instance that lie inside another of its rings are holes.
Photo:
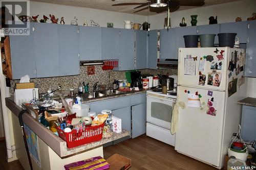
[[[219,36],[219,46],[234,46],[234,40],[236,39],[237,33],[220,33]]]

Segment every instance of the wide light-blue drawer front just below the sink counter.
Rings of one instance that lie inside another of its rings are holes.
[[[130,106],[130,97],[115,98],[105,101],[92,102],[90,104],[90,111],[100,112],[101,110],[114,110]]]

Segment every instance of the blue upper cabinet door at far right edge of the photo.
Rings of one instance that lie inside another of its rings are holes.
[[[249,41],[246,45],[245,76],[256,77],[256,20],[249,21]]]

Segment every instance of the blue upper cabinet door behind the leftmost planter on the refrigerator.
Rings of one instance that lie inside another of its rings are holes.
[[[184,35],[196,35],[197,34],[197,27],[196,26],[191,26],[191,27],[176,27],[175,28],[175,55],[176,59],[178,59],[178,49],[180,47],[185,47],[185,42],[184,42]],[[161,46],[161,43],[160,43]]]

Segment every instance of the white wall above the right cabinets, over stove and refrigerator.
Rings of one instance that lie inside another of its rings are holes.
[[[255,0],[242,0],[238,2],[176,11],[170,13],[171,27],[179,27],[182,17],[185,17],[187,26],[191,26],[190,15],[198,15],[198,26],[208,25],[208,18],[210,16],[218,16],[218,23],[234,22],[237,17],[242,17],[242,20],[247,20],[247,18],[250,17],[253,12],[256,12],[255,7]],[[167,13],[150,16],[149,22],[151,23],[151,30],[163,29],[165,17],[167,17]]]

